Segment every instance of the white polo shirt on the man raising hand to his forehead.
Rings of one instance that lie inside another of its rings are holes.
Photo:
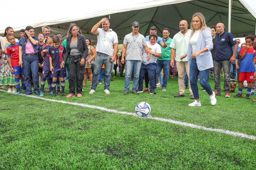
[[[108,54],[111,57],[113,56],[113,44],[118,43],[117,34],[112,30],[109,29],[108,32],[104,31],[103,28],[98,28],[98,35],[97,35],[97,48],[96,51],[104,54]]]

